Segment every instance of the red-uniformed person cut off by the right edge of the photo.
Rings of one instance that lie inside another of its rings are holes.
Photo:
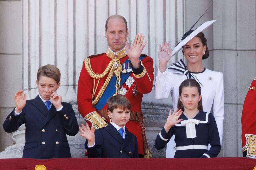
[[[244,100],[242,111],[242,152],[244,157],[256,158],[256,77]]]

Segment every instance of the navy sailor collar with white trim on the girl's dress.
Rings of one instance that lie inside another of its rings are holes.
[[[195,117],[193,119],[199,120],[198,125],[203,125],[203,124],[209,124],[210,123],[210,113],[208,112],[204,112],[204,111],[199,111]],[[179,119],[183,119],[183,120],[188,120],[188,118],[182,113],[181,116],[179,117]],[[185,127],[185,126],[181,126],[181,122],[174,125],[175,127]]]

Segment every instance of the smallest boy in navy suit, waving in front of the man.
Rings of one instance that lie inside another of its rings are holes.
[[[112,122],[106,127],[97,129],[95,133],[87,123],[86,127],[82,124],[83,129],[79,127],[79,135],[86,138],[88,157],[138,157],[137,138],[125,127],[130,119],[130,101],[122,95],[116,95],[107,100],[107,108]]]

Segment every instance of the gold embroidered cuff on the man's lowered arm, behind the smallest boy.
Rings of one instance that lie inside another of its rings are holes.
[[[99,129],[108,125],[96,111],[87,114],[84,117],[84,119],[90,121],[92,126],[95,127],[96,129]]]

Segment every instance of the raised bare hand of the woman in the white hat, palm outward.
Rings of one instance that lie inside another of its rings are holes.
[[[169,50],[169,43],[163,42],[162,46],[159,45],[158,58],[159,58],[159,70],[164,72],[166,65],[172,56],[172,49]]]

